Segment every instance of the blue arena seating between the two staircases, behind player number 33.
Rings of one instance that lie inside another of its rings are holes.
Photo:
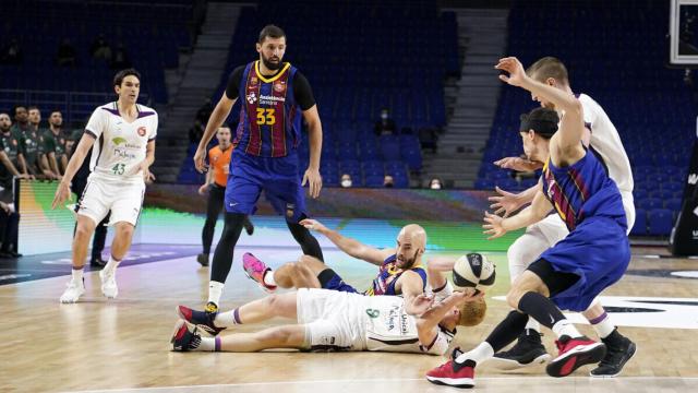
[[[256,59],[254,43],[267,23],[284,27],[285,60],[298,67],[313,87],[323,121],[324,184],[338,186],[347,172],[354,187],[383,187],[385,175],[394,177],[395,187],[408,187],[409,171],[422,165],[417,130],[444,126],[443,81],[459,72],[455,14],[440,14],[435,4],[405,2],[263,1],[242,11],[228,70]],[[382,108],[390,110],[397,135],[374,134]],[[238,110],[236,105],[232,124]],[[300,169],[304,171],[309,144],[303,135]],[[190,156],[193,152],[190,148]],[[197,181],[191,160],[184,162],[179,179]]]

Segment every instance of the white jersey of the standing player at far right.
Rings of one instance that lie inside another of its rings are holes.
[[[583,107],[585,122],[591,130],[591,147],[603,158],[609,176],[618,186],[621,192],[633,192],[633,171],[630,160],[625,153],[621,135],[603,108],[586,94],[579,95]]]

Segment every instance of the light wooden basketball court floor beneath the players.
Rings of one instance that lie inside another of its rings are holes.
[[[237,251],[238,258],[243,251]],[[265,257],[263,249],[253,251]],[[280,263],[285,255],[275,252],[267,252],[268,258],[278,257]],[[634,254],[643,253],[646,250],[634,249]],[[336,254],[327,251],[327,260]],[[372,278],[371,267],[366,271],[329,264],[360,287]],[[61,269],[69,272],[68,266]],[[698,261],[635,257],[628,274],[603,295],[681,298],[686,321],[698,324],[698,279],[660,274],[677,270],[696,271]],[[169,337],[177,319],[174,308],[179,303],[201,308],[207,293],[207,275],[208,271],[201,269],[194,258],[124,266],[118,272],[119,298],[107,300],[99,291],[97,274],[88,273],[87,293],[77,305],[58,302],[68,276],[0,286],[0,392],[455,391],[423,379],[425,371],[443,362],[443,358],[424,355],[172,353]],[[492,297],[504,295],[507,287],[508,279],[498,281],[488,294],[485,322],[461,329],[456,338],[458,345],[465,349],[477,345],[504,317],[507,307]],[[244,277],[236,260],[222,308],[261,296],[264,293]],[[661,324],[662,313],[655,314],[654,322]],[[240,331],[253,329],[246,325]],[[580,329],[593,336],[589,326]],[[574,377],[552,379],[544,374],[542,366],[501,372],[483,365],[476,376],[476,391],[698,392],[698,330],[621,330],[638,344],[638,353],[622,377],[591,379],[587,377],[590,367],[586,367]],[[543,340],[554,354],[552,334],[546,333]]]

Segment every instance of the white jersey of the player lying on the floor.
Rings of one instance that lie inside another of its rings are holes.
[[[401,297],[366,296],[362,307],[368,350],[443,355],[455,335],[440,327],[433,343],[421,345],[416,320],[405,312]]]

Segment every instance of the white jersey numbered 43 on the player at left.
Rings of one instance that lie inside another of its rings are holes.
[[[145,159],[146,144],[157,134],[157,112],[137,105],[139,117],[127,122],[117,103],[105,104],[92,114],[85,132],[97,140],[92,152],[89,169],[99,177],[115,181],[143,181],[137,166]]]

